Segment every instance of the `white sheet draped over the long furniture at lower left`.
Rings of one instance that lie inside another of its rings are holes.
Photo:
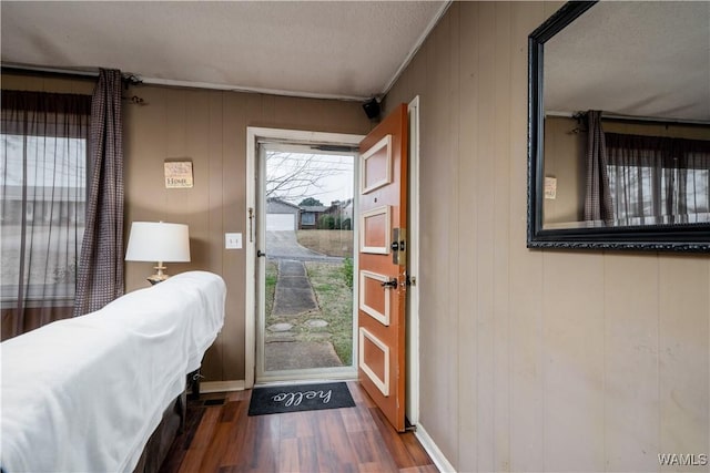
[[[183,273],[0,346],[0,465],[132,471],[224,321],[226,288]]]

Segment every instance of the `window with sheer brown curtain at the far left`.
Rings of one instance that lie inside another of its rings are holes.
[[[91,96],[2,91],[2,339],[71,317]]]

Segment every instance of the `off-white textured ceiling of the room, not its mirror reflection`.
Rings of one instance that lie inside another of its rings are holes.
[[[120,69],[148,83],[366,99],[448,1],[2,1],[3,64]]]

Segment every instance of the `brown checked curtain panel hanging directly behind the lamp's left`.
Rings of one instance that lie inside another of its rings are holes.
[[[74,316],[123,295],[123,123],[121,71],[101,70],[91,100],[90,187]]]

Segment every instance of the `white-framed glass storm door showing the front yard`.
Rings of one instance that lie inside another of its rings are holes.
[[[256,143],[255,381],[356,376],[357,148]]]

